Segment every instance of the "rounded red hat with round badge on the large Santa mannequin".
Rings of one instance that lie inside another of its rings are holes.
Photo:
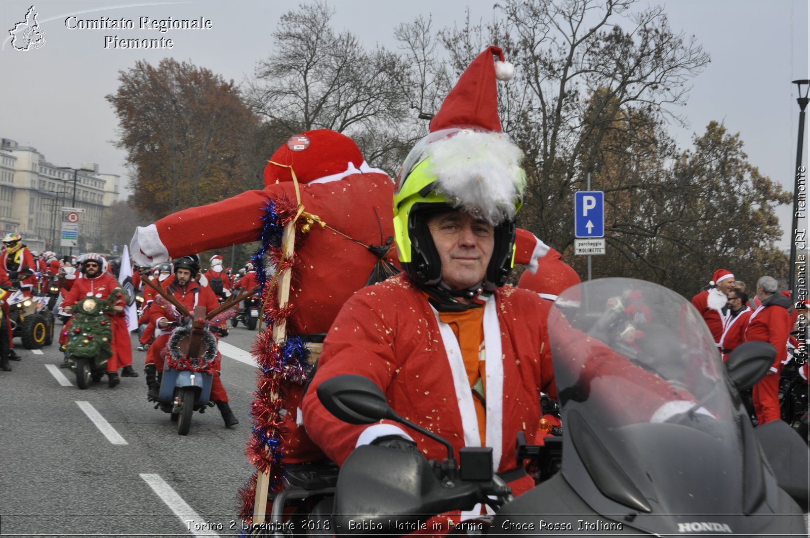
[[[334,130],[307,130],[291,136],[275,151],[264,168],[264,186],[292,181],[326,182],[353,173],[384,173],[371,169],[354,140]]]

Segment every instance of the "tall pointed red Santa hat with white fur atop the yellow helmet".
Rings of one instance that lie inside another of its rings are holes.
[[[424,162],[454,206],[474,208],[492,224],[514,218],[526,173],[522,151],[501,130],[497,94],[497,80],[513,74],[498,47],[487,47],[471,62],[430,122],[430,134],[405,159],[398,190]]]

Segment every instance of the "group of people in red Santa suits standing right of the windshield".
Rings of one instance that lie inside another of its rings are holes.
[[[706,320],[724,361],[744,342],[768,342],[776,348],[770,371],[752,389],[757,424],[763,425],[781,418],[779,376],[790,362],[788,348],[797,345],[791,331],[794,327],[806,330],[808,305],[807,301],[791,305],[790,292],[778,292],[778,283],[771,276],[757,280],[756,294],[752,308],[748,294],[737,284],[731,271],[718,269],[714,271],[710,288],[693,297],[692,304]],[[806,365],[803,368],[806,369]]]

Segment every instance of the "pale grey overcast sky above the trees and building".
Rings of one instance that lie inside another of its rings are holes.
[[[45,45],[20,52],[8,29],[23,20],[30,2],[4,2],[0,51],[0,137],[36,147],[60,166],[100,164],[104,173],[126,176],[124,153],[113,147],[117,120],[104,96],[117,88],[117,73],[139,59],[157,63],[173,57],[194,62],[225,79],[243,82],[273,49],[271,33],[279,15],[299,2],[51,2],[36,3]],[[417,15],[432,15],[434,28],[492,18],[491,0],[331,0],[335,28],[350,29],[366,45],[395,46],[392,29]],[[689,129],[673,129],[680,147],[711,120],[740,132],[752,164],[792,190],[799,107],[794,79],[810,79],[807,0],[670,0],[665,6],[673,30],[694,34],[711,63],[693,79],[689,102],[678,113]],[[441,5],[440,5],[441,4]],[[639,6],[647,6],[642,1]],[[133,19],[133,30],[66,28],[66,18]],[[211,20],[210,30],[139,30],[139,17]],[[173,49],[104,49],[104,36],[173,40]],[[519,75],[519,66],[518,66]],[[805,130],[810,130],[810,126]],[[804,164],[807,166],[808,136]],[[372,163],[373,164],[373,163]],[[790,210],[778,214],[788,247]],[[733,218],[733,216],[732,216]],[[572,223],[573,225],[573,223]]]

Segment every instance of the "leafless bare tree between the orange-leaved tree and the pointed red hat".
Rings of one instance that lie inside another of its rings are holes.
[[[352,32],[335,32],[333,15],[323,2],[282,15],[275,50],[249,83],[254,110],[291,134],[396,121],[405,106],[396,91],[403,86],[399,56],[366,50]]]

